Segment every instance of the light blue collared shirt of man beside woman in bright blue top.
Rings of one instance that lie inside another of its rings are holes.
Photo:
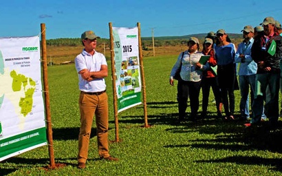
[[[254,39],[251,38],[247,43],[245,41],[239,43],[238,50],[235,55],[235,62],[240,63],[238,75],[255,75],[257,73],[257,63],[252,60],[251,49]],[[241,63],[241,57],[245,55],[245,61]]]

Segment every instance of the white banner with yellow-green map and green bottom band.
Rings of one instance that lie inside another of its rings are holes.
[[[47,144],[39,36],[0,38],[0,162]]]

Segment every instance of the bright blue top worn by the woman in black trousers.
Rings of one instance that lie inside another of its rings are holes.
[[[225,66],[234,63],[236,48],[233,43],[226,46],[215,46],[215,59],[218,66]]]

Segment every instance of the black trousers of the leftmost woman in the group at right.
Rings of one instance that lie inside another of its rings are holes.
[[[179,119],[182,120],[186,116],[186,108],[188,97],[190,99],[191,119],[195,119],[199,109],[199,90],[201,81],[178,81],[177,84],[177,101]]]

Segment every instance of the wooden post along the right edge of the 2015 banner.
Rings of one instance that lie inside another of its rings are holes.
[[[141,32],[140,32],[140,23],[137,23],[138,26],[138,48],[139,48],[139,59],[140,59],[140,69],[141,69],[141,79],[142,79],[142,95],[143,95],[143,104],[144,104],[144,127],[149,127],[148,118],[147,118],[147,100],[146,100],[146,84],[144,76],[144,65],[142,57],[142,43],[141,43]]]

